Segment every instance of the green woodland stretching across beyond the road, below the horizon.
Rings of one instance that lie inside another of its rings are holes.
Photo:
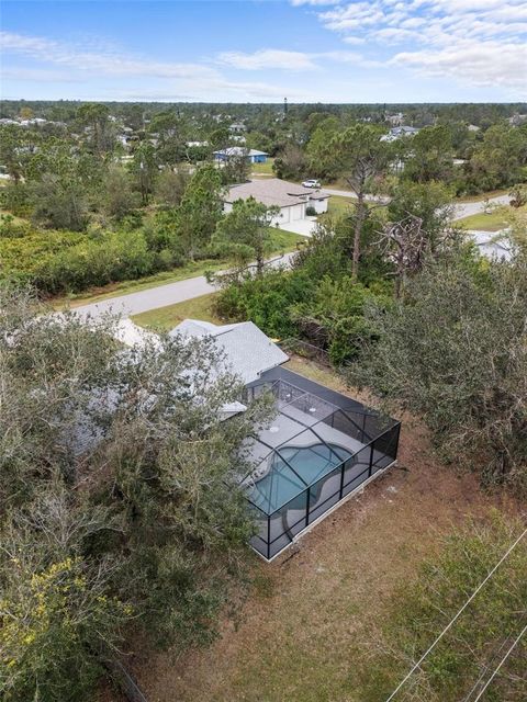
[[[356,252],[358,239],[367,236],[366,230],[361,234],[367,194],[397,202],[406,189],[405,206],[412,212],[413,186],[433,194],[445,186],[452,197],[525,181],[527,125],[498,122],[474,132],[464,121],[441,117],[413,137],[388,143],[381,140],[386,125],[357,121],[338,110],[328,113],[322,106],[318,112],[305,112],[305,106],[301,113],[288,111],[283,118],[272,106],[253,106],[239,134],[233,134],[233,116],[226,111],[218,116],[167,109],[146,118],[141,105],[128,106],[137,117],[133,127],[99,103],[76,105],[67,123],[0,126],[0,163],[9,176],[0,201],[14,216],[1,223],[3,275],[55,294],[170,270],[189,260],[214,258],[220,249],[228,249],[231,256],[236,248],[239,253],[239,213],[229,247],[225,227],[221,241],[216,228],[222,188],[246,180],[249,163],[244,156],[223,168],[212,163],[213,150],[236,145],[237,138],[245,139],[247,148],[276,154],[279,177],[344,179],[359,199]],[[21,111],[31,116],[27,105]],[[348,168],[348,155],[355,165],[366,155],[367,168]],[[455,157],[462,162],[456,163]],[[248,238],[258,249],[253,247],[251,253],[261,258],[269,250],[269,236],[258,244],[255,235],[264,231],[261,217],[256,212],[244,216],[250,220]],[[355,263],[354,279],[356,268]]]

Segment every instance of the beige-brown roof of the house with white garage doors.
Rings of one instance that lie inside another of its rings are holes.
[[[266,178],[262,180],[251,180],[248,183],[233,185],[229,188],[224,202],[233,203],[236,200],[248,200],[254,197],[265,205],[288,207],[311,200],[324,200],[329,197],[329,193],[323,190],[304,188],[296,183],[289,183],[280,178]]]

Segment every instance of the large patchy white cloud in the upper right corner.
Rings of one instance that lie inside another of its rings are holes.
[[[375,47],[386,66],[515,98],[527,90],[526,0],[357,0],[317,16],[345,43]]]

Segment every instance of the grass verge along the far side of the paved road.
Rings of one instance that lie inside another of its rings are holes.
[[[294,234],[293,231],[284,231],[276,228],[271,229],[271,256],[285,253],[287,251],[294,251],[296,249],[296,244],[303,240],[303,237]],[[221,271],[225,268],[228,268],[228,260],[226,259],[205,259],[203,261],[194,261],[187,263],[181,268],[176,268],[171,271],[162,271],[146,278],[122,281],[120,283],[110,283],[109,285],[91,288],[83,293],[55,297],[51,301],[51,304],[55,309],[63,309],[66,306],[78,307],[79,305],[88,305],[99,299],[119,297],[120,295],[137,293],[142,290],[157,287],[158,285],[176,283],[177,281],[195,278],[198,275],[203,275],[205,271]]]

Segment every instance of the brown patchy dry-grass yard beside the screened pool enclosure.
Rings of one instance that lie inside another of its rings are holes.
[[[310,372],[310,365],[293,360],[290,367],[345,389],[330,371]],[[135,666],[150,702],[359,702],[361,646],[394,587],[415,576],[452,524],[490,506],[514,509],[505,497],[482,494],[473,476],[440,465],[426,430],[405,420],[400,467],[278,561],[255,565],[258,587],[237,627],[224,622],[222,637],[206,650],[180,660],[156,654]]]

